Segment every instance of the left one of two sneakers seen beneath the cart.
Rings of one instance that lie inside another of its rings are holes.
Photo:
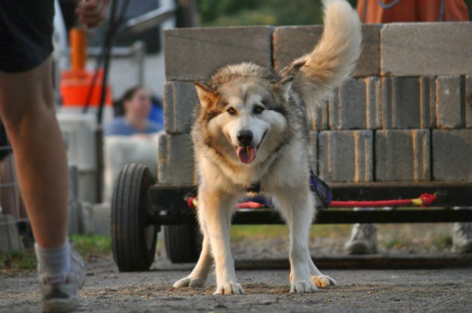
[[[344,245],[350,255],[377,253],[377,228],[374,224],[355,224],[351,238]]]

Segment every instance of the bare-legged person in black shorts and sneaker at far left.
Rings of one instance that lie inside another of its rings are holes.
[[[111,0],[78,2],[86,27],[108,15]],[[14,151],[18,183],[36,243],[44,312],[79,305],[84,261],[69,246],[69,173],[53,91],[54,1],[0,1],[0,116]]]

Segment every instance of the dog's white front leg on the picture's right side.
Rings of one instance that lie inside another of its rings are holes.
[[[306,189],[306,190],[305,190]],[[308,232],[313,220],[314,199],[307,188],[280,190],[276,199],[290,229],[291,293],[314,292],[307,256]]]

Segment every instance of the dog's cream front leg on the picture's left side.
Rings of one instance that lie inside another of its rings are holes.
[[[205,221],[205,234],[209,238],[215,259],[215,294],[243,294],[237,283],[235,261],[231,254],[231,216],[236,207],[236,197],[221,191],[199,190],[199,215]]]

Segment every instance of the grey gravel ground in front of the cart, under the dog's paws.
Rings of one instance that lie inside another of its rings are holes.
[[[158,258],[149,272],[119,273],[113,260],[88,264],[77,312],[470,312],[472,267],[441,270],[325,270],[339,285],[313,294],[289,294],[288,270],[236,271],[245,295],[212,295],[205,288],[172,284],[192,264]],[[1,278],[0,312],[40,311],[33,275]]]

